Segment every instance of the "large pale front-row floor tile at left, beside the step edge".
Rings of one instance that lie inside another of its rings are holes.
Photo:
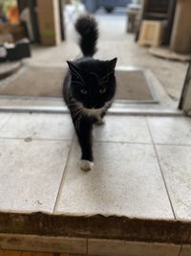
[[[70,143],[0,140],[0,211],[53,212]]]

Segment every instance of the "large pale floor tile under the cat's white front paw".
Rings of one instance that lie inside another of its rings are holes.
[[[78,159],[74,144],[57,212],[173,219],[151,145],[95,143],[95,167],[88,173]]]

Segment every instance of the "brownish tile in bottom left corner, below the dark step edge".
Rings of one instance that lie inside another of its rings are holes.
[[[0,234],[0,245],[3,249],[11,250],[87,253],[87,243],[84,238]],[[29,254],[26,253],[27,255]]]

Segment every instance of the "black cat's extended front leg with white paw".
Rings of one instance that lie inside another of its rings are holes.
[[[89,171],[94,166],[92,151],[92,122],[88,118],[74,119],[74,128],[81,148],[81,164],[83,171]]]

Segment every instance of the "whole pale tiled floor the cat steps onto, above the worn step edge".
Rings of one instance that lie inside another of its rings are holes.
[[[83,173],[68,115],[1,113],[0,211],[190,221],[191,119],[105,121]]]

